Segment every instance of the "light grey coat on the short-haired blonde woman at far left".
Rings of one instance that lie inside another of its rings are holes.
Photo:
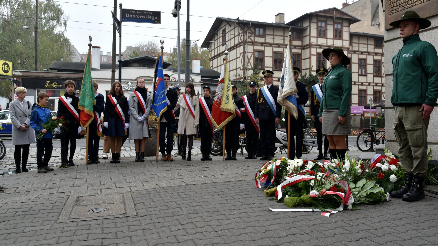
[[[23,107],[20,101],[15,99],[9,104],[9,114],[12,121],[12,144],[32,144],[35,143],[35,131],[30,127],[30,112],[32,105],[30,102],[24,100]],[[21,124],[25,123],[27,129],[18,130]]]

